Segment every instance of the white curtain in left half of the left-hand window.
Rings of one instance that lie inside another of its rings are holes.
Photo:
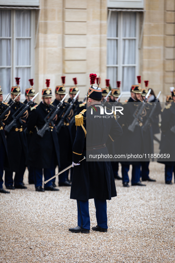
[[[11,11],[0,10],[0,37],[11,36]],[[11,66],[11,39],[0,39],[0,66]],[[10,90],[10,68],[0,68],[0,85],[4,93]]]

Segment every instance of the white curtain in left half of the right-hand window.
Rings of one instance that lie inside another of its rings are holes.
[[[110,24],[108,25],[107,37],[118,37],[118,14],[111,12]],[[107,65],[118,64],[118,40],[107,39]],[[110,79],[112,88],[116,87],[117,67],[107,67],[107,78]]]

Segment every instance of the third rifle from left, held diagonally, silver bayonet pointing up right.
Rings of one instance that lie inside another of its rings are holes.
[[[47,116],[45,117],[44,121],[45,121],[45,124],[43,125],[43,127],[38,130],[37,134],[40,136],[40,137],[43,137],[44,136],[44,133],[46,132],[46,130],[49,130],[49,123],[51,123],[52,126],[54,126],[53,124],[53,119],[55,118],[56,114],[58,113],[60,107],[62,106],[66,96],[68,95],[68,93],[66,93],[66,95],[64,96],[64,98],[60,101],[60,103],[54,107],[50,112],[49,114],[47,114]],[[56,109],[55,109],[56,108]],[[53,112],[54,111],[54,112]],[[53,113],[52,113],[53,112]],[[52,113],[52,115],[51,115]],[[50,117],[49,117],[50,116]],[[49,118],[48,118],[49,117]]]

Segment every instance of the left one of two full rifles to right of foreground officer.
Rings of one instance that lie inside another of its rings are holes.
[[[138,119],[140,121],[142,121],[141,114],[142,114],[142,111],[146,105],[145,101],[147,100],[148,96],[150,95],[150,92],[151,92],[151,89],[148,91],[147,95],[145,96],[145,99],[139,104],[137,109],[134,111],[134,114],[133,114],[134,120],[128,127],[128,130],[130,130],[131,132],[134,132],[136,125],[137,126],[139,125]]]

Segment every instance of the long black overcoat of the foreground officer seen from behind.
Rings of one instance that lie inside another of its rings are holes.
[[[90,110],[87,109],[87,111]],[[96,114],[100,115],[99,109]],[[108,144],[121,136],[122,129],[114,118],[98,118],[92,124],[90,118],[87,116],[88,113],[85,112],[83,115],[84,129],[86,129],[87,124],[87,133],[90,130],[91,133],[94,132],[96,135],[99,133],[99,136],[91,136],[91,139],[88,140],[88,147]],[[77,126],[76,138],[73,144],[73,162],[75,163],[82,160],[84,156],[86,157],[86,154],[108,154],[107,147],[86,151],[84,129],[81,126]],[[70,191],[71,199],[89,200],[91,198],[98,198],[101,200],[110,200],[111,197],[116,195],[115,180],[110,161],[87,162],[83,160],[80,165],[74,166]]]

